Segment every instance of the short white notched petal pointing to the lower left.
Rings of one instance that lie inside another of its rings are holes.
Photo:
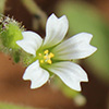
[[[25,70],[23,78],[32,81],[31,88],[38,88],[48,81],[49,73],[39,66],[37,60]]]

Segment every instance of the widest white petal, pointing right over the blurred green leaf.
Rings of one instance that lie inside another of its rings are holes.
[[[80,33],[52,49],[58,60],[82,59],[94,53],[97,48],[89,45],[93,35]]]

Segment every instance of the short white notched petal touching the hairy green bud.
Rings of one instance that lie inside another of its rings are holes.
[[[23,39],[17,40],[16,44],[26,52],[31,55],[36,55],[36,50],[41,46],[43,39],[41,37],[31,31],[23,32]]]

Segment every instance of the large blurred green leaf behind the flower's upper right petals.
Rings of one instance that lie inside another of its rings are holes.
[[[86,59],[93,68],[95,75],[109,83],[109,26],[97,10],[78,2],[62,2],[58,4],[57,12],[65,14],[69,19],[69,35],[87,32],[94,35],[92,45],[98,48],[95,55]]]

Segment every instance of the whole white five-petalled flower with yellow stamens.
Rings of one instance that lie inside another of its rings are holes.
[[[83,59],[97,48],[89,45],[93,37],[80,33],[63,41],[69,23],[65,15],[58,19],[51,14],[47,20],[45,40],[34,32],[23,32],[23,39],[16,44],[26,52],[34,55],[35,61],[27,66],[24,80],[31,80],[31,88],[43,86],[49,80],[49,72],[58,75],[64,84],[81,90],[80,82],[87,82],[87,74],[73,59]]]

